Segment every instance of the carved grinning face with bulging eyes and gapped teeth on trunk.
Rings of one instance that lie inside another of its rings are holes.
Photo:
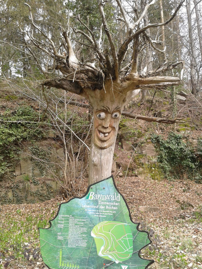
[[[94,111],[94,144],[100,149],[107,149],[116,140],[121,108],[104,107]]]

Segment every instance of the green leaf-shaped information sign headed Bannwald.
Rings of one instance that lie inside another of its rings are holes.
[[[41,255],[52,269],[144,269],[153,261],[139,252],[151,241],[138,225],[111,176],[60,204],[50,228],[40,229]]]

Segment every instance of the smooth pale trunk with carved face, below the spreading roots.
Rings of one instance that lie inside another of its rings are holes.
[[[89,159],[89,185],[111,175],[113,153],[124,105],[139,93],[139,90],[121,94],[119,85],[107,79],[105,89],[88,91],[93,107],[93,130]],[[130,96],[130,98],[128,97]]]

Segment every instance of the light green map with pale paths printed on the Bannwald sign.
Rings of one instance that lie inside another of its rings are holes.
[[[97,254],[116,263],[128,260],[133,253],[133,236],[130,225],[121,222],[103,221],[92,230]]]

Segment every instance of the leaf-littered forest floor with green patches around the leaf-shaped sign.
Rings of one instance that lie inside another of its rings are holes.
[[[202,268],[202,188],[193,181],[154,181],[128,177],[115,178],[128,202],[132,219],[140,230],[148,230],[151,245],[141,257],[153,259],[150,269]],[[132,186],[132,187],[131,187]],[[87,181],[80,196],[85,194]],[[47,268],[40,254],[39,227],[48,228],[61,196],[36,204],[1,206],[0,268]],[[158,207],[157,212],[141,212],[140,206]]]

